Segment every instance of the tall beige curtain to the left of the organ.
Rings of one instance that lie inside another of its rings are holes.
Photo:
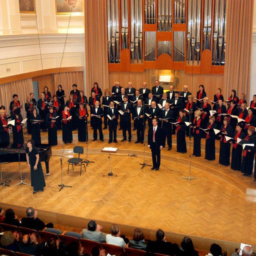
[[[107,64],[107,1],[85,0],[86,91],[94,82],[102,92],[109,88]]]

